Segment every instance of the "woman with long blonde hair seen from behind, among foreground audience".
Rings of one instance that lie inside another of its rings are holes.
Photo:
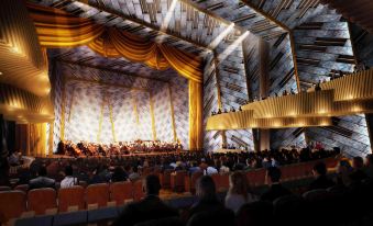
[[[257,197],[251,192],[245,174],[242,172],[230,174],[226,207],[237,213],[243,204],[254,201],[257,201]]]

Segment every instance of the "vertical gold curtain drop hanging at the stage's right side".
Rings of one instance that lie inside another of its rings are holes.
[[[202,83],[189,80],[189,149],[202,149]]]

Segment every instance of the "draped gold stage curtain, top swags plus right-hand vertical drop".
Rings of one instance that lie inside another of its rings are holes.
[[[165,70],[173,67],[189,80],[189,146],[202,144],[202,59],[165,44],[157,44],[128,32],[105,27],[88,19],[76,18],[62,10],[28,3],[40,43],[45,47],[87,45],[106,57],[124,57]]]

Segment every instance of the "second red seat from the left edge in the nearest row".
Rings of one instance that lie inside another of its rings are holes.
[[[45,214],[48,208],[57,207],[56,191],[54,189],[33,189],[28,193],[28,210],[36,215]]]

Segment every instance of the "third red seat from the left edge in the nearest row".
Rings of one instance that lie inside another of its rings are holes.
[[[58,190],[58,211],[67,212],[68,206],[78,206],[78,210],[85,208],[85,190],[76,185]]]

